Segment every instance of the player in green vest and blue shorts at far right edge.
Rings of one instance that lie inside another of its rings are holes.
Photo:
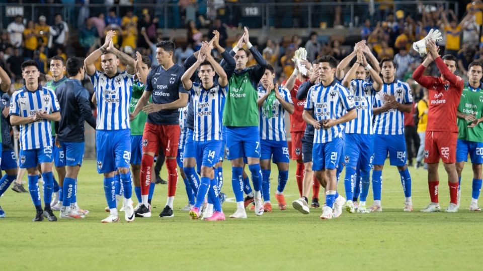
[[[461,93],[458,105],[458,143],[456,145],[456,171],[461,187],[461,172],[464,162],[471,158],[473,167],[473,184],[470,211],[481,211],[478,206],[479,190],[481,189],[481,164],[483,164],[483,63],[471,62],[468,66],[468,82]],[[458,206],[460,201],[458,190]]]

